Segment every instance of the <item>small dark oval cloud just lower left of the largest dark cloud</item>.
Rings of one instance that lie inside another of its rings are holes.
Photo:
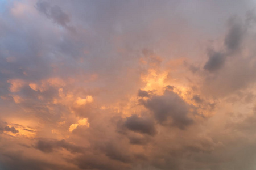
[[[156,129],[154,121],[148,117],[138,117],[137,115],[132,115],[127,117],[125,124],[126,128],[138,133],[144,133],[148,135],[155,135]]]

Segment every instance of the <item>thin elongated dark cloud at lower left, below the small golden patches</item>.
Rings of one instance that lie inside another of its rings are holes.
[[[35,146],[36,149],[42,151],[42,152],[53,152],[54,150],[65,148],[66,150],[70,152],[83,152],[84,148],[73,145],[71,143],[68,143],[67,141],[60,140],[49,140],[49,139],[39,139],[38,142],[36,142]]]

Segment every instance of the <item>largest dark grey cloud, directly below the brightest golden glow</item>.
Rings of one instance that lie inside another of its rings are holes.
[[[172,91],[166,90],[162,96],[155,95],[148,100],[141,100],[141,103],[154,113],[160,124],[167,123],[184,129],[193,123],[188,117],[189,105]]]

